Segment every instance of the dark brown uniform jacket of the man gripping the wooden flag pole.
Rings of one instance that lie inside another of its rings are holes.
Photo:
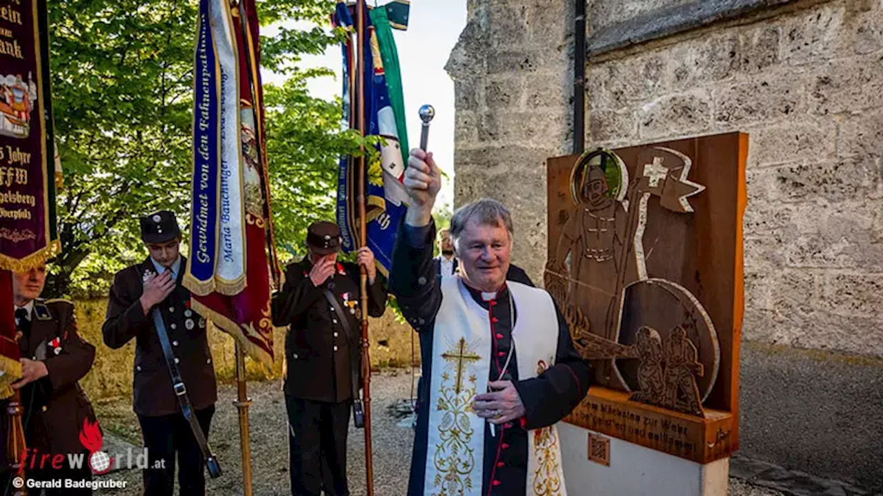
[[[335,274],[319,287],[310,280],[312,268],[306,257],[285,267],[285,284],[273,297],[273,325],[291,326],[285,335],[283,387],[296,398],[345,402],[352,397],[353,367],[357,378],[361,371],[358,266],[337,262]],[[343,309],[350,334],[324,296],[329,284],[333,284],[331,293]],[[378,273],[368,287],[368,315],[383,315],[386,299],[386,278]]]

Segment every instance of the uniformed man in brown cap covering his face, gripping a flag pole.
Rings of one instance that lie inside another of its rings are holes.
[[[368,275],[368,315],[386,309],[386,279],[370,248],[358,265],[338,262],[340,229],[313,222],[307,256],[285,268],[273,298],[273,324],[285,336],[285,405],[289,419],[291,492],[295,496],[347,496],[346,434],[361,384],[359,266]],[[332,303],[332,299],[334,303]]]

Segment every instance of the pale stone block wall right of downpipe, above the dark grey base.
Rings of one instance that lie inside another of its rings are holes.
[[[589,64],[589,144],[750,135],[749,340],[883,357],[883,2]]]

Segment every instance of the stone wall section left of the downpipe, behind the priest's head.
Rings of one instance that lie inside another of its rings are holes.
[[[516,211],[513,261],[534,282],[546,263],[545,162],[572,147],[572,35],[564,2],[470,0],[447,66],[457,108],[455,207],[486,197]]]

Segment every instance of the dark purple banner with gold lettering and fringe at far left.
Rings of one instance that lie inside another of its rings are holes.
[[[3,7],[0,28],[0,269],[23,272],[61,252],[45,0]]]

